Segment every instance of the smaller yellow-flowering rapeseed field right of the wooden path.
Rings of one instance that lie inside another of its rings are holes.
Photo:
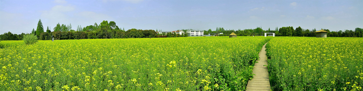
[[[266,45],[276,91],[359,91],[363,38],[275,37]]]

